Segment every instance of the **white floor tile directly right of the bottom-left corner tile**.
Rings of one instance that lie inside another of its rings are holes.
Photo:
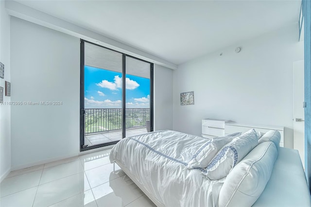
[[[68,199],[89,189],[85,173],[77,173],[68,177],[39,185],[34,207],[47,207]]]

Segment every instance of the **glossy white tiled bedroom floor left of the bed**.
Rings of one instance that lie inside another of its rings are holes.
[[[110,149],[11,172],[0,207],[155,207],[109,161]]]

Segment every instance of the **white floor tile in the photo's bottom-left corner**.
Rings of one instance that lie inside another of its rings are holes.
[[[37,187],[22,190],[0,198],[1,207],[32,207]]]

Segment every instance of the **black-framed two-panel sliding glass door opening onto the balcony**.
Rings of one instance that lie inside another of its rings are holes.
[[[81,40],[80,150],[152,130],[153,64]]]

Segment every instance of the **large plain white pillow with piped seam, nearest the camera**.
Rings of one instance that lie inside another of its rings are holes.
[[[277,157],[271,141],[255,147],[225,178],[218,207],[250,207],[265,189]]]

